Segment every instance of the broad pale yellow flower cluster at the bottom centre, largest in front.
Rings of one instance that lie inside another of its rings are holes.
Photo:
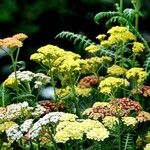
[[[56,127],[54,138],[57,143],[66,143],[69,140],[82,140],[83,135],[86,135],[87,139],[104,141],[109,137],[109,131],[95,120],[64,121]]]

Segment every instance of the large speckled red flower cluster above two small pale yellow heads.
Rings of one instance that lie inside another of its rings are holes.
[[[139,102],[129,98],[118,98],[110,101],[108,106],[97,106],[90,109],[88,112],[89,118],[101,119],[105,116],[130,116],[133,112],[138,114],[142,107]]]

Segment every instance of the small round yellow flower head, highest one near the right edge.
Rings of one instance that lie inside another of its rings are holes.
[[[133,51],[133,53],[138,54],[140,52],[143,52],[144,48],[145,47],[144,47],[144,45],[142,43],[140,43],[140,42],[134,42],[133,43],[133,47],[132,47],[132,51]]]

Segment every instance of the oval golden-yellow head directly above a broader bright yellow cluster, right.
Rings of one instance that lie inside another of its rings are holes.
[[[121,76],[127,72],[127,69],[120,67],[118,65],[113,65],[107,69],[107,73],[112,76]]]

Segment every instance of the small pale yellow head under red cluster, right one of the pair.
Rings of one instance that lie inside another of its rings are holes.
[[[122,121],[126,126],[136,126],[137,120],[134,117],[122,117]]]

